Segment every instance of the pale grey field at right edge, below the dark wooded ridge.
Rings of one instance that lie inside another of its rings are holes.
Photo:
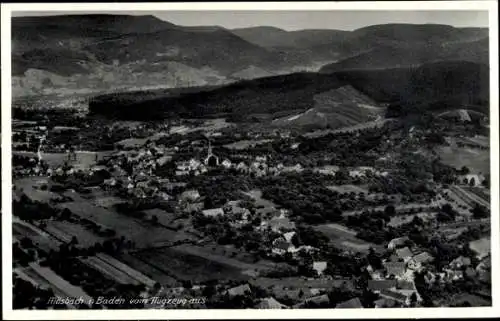
[[[471,173],[489,173],[490,172],[490,151],[442,146],[436,149],[436,152],[441,157],[441,161],[453,166],[457,169],[466,166]]]

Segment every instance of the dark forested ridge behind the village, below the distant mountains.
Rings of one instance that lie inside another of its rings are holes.
[[[420,67],[295,73],[240,81],[227,86],[94,97],[90,110],[114,118],[228,116],[234,121],[306,111],[314,95],[351,85],[378,102],[404,113],[474,105],[488,110],[488,67],[470,62],[440,62]],[[414,109],[414,110],[413,110]]]

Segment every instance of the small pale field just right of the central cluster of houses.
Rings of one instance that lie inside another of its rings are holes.
[[[325,234],[335,246],[354,252],[368,252],[370,247],[378,248],[377,245],[356,238],[353,231],[340,224],[323,224],[314,226],[314,229]]]

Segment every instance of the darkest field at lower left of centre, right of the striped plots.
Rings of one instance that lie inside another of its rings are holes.
[[[144,250],[135,253],[135,256],[158,270],[175,276],[176,279],[190,280],[193,283],[224,279],[245,280],[248,278],[235,267],[186,254],[184,251],[173,248]]]

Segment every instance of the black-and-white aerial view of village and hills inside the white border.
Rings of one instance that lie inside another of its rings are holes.
[[[488,11],[10,23],[12,309],[492,306]]]

